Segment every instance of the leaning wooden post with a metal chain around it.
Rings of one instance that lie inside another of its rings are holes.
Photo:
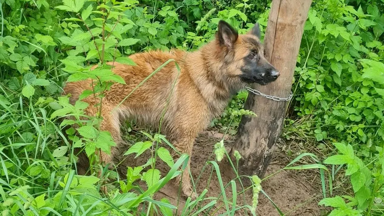
[[[312,0],[273,0],[264,38],[266,57],[280,72],[279,78],[269,85],[255,84],[254,89],[266,95],[288,98],[296,59],[303,36]],[[257,117],[243,116],[238,137],[232,146],[232,161],[235,150],[239,161],[240,175],[264,176],[270,163],[275,143],[283,129],[286,101],[274,101],[249,93],[245,109],[252,110]],[[228,169],[227,169],[228,170]]]

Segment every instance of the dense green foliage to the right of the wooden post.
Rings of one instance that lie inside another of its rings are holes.
[[[324,163],[333,165],[333,179],[348,164],[345,175],[354,197],[321,204],[336,208],[331,215],[369,215],[382,202],[383,15],[375,2],[356,10],[343,0],[324,0],[313,5],[308,18],[291,102],[295,127],[287,133],[338,140],[334,146],[341,154]]]

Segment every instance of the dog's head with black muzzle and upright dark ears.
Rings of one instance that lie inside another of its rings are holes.
[[[224,61],[226,76],[237,78],[241,83],[267,85],[275,81],[280,73],[266,60],[264,47],[260,42],[258,23],[245,35],[227,22],[220,20],[216,40],[218,53]]]

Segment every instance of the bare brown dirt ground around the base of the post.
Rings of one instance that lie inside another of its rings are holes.
[[[191,160],[192,176],[194,177],[196,191],[198,194],[200,194],[205,188],[208,189],[208,192],[205,195],[206,198],[217,197],[217,195],[221,192],[215,171],[211,174],[212,166],[206,166],[205,170],[202,172],[205,163],[207,161],[214,160],[214,155],[212,154],[214,145],[220,141],[221,138],[222,134],[206,131],[197,138],[193,149]],[[230,150],[233,138],[230,136],[225,137],[224,143],[227,150]],[[292,160],[292,158],[286,156],[285,151],[281,151],[283,145],[283,143],[280,143],[276,148],[275,154],[265,176],[269,176],[270,174],[279,171],[281,168],[286,166],[290,160]],[[147,159],[150,157],[149,151],[136,159],[133,159],[132,156],[129,158],[127,158],[127,156],[122,156],[128,148],[129,146],[121,146],[121,149],[119,150],[121,155],[117,155],[115,158],[117,161],[122,161],[119,165],[119,174],[121,175],[121,178],[126,178],[126,166],[141,166],[145,164]],[[160,169],[162,177],[169,171],[167,165],[161,161],[157,162],[156,168]],[[212,177],[210,178],[210,176]],[[224,185],[230,181],[230,179],[227,179],[226,176],[222,176],[222,178]],[[141,185],[144,186],[145,184],[141,183]],[[242,191],[240,188],[241,185],[237,184],[238,191]],[[265,179],[262,182],[262,188],[286,216],[323,215],[324,209],[321,209],[321,206],[318,206],[317,204],[322,196],[321,184],[319,184],[319,174],[316,173],[316,171],[283,170],[270,178]],[[154,198],[156,200],[167,198],[171,204],[178,206],[177,213],[179,214],[184,208],[186,201],[186,199],[178,195],[179,193],[178,186],[175,184],[167,184],[157,194],[155,194]],[[232,198],[231,186],[227,188],[225,193],[228,199]],[[209,203],[209,201],[206,203]],[[232,203],[232,201],[230,201],[230,203]],[[245,193],[245,204],[252,206],[252,193]],[[244,205],[243,194],[238,194],[237,205]],[[214,208],[210,209],[208,215],[220,215],[225,212],[226,210],[223,202],[218,201]],[[269,199],[262,193],[259,195],[259,203],[256,212],[259,216],[280,215]],[[206,212],[203,211],[199,215],[204,215],[205,213]],[[241,209],[236,211],[235,215],[251,214],[249,210],[244,211]]]

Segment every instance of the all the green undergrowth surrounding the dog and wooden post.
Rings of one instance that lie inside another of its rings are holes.
[[[0,1],[2,215],[172,215],[176,206],[165,198],[153,199],[153,194],[181,174],[179,168],[189,156],[174,161],[169,153],[173,146],[165,136],[143,131],[140,138],[127,135],[132,145],[125,155],[140,157],[151,151],[146,164],[128,167],[124,177],[116,167],[100,166],[95,152],[108,153],[116,143],[108,131],[99,130],[102,116],[84,116],[88,104],[71,105],[60,96],[63,84],[90,78],[96,87],[81,98],[94,94],[101,102],[112,83],[124,83],[111,73],[107,61],[132,65],[125,56],[135,52],[195,50],[214,37],[220,19],[239,33],[258,21],[265,32],[269,10],[269,0]],[[384,212],[383,10],[382,0],[316,0],[305,25],[283,136],[316,141],[323,155],[298,154],[284,169],[320,170],[324,199],[319,204],[334,208],[329,215]],[[96,64],[99,67],[90,70]],[[247,96],[246,91],[234,96],[211,126],[235,135],[240,117],[249,114],[243,110]],[[72,119],[63,120],[67,116]],[[89,157],[89,176],[76,173],[75,147]],[[225,184],[216,162],[228,157],[223,142],[212,154],[216,160],[204,169],[212,169],[220,194],[212,198],[202,191],[177,211],[215,214],[211,210],[218,204],[228,215],[240,209],[255,214],[258,194],[265,194],[260,185],[265,179],[248,176],[251,188],[239,188],[239,176]],[[293,166],[305,156],[313,163]],[[156,160],[170,171],[161,173]],[[236,167],[232,164],[235,173]],[[340,173],[344,177],[336,179]],[[101,180],[107,177],[112,181],[104,184]],[[338,180],[350,188],[334,196]],[[108,194],[100,193],[102,186]],[[227,188],[232,197],[225,194]],[[236,200],[248,189],[253,190],[253,202],[238,206]]]

